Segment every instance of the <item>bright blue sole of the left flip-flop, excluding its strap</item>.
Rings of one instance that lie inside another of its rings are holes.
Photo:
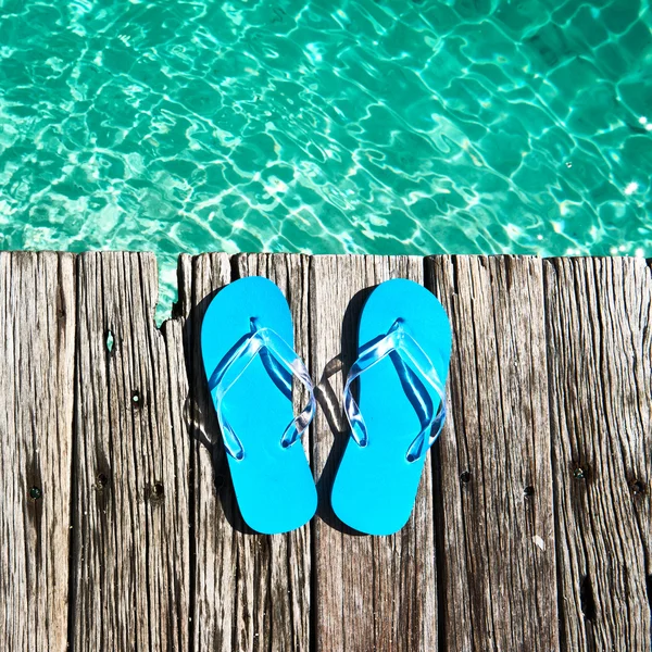
[[[247,337],[252,318],[293,347],[292,316],[278,287],[256,276],[236,280],[215,296],[202,322],[206,378]],[[279,383],[268,366],[263,351],[229,389],[222,410],[244,450],[240,461],[226,455],[242,518],[259,532],[279,534],[312,518],[317,493],[301,441],[280,443],[293,416],[291,376]]]

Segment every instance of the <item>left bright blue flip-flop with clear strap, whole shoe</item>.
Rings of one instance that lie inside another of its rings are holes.
[[[317,492],[301,435],[315,413],[313,385],[293,351],[288,303],[276,285],[251,276],[211,301],[201,351],[244,522],[263,534],[308,523]],[[292,375],[310,392],[294,418]]]

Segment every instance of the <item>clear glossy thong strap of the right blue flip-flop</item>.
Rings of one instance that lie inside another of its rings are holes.
[[[409,462],[416,461],[425,451],[428,450],[439,437],[443,423],[446,421],[446,396],[443,384],[439,378],[435,365],[418,342],[406,330],[403,319],[397,319],[388,334],[376,342],[365,347],[351,366],[347,385],[344,386],[344,412],[349,424],[351,425],[351,435],[358,446],[365,447],[368,443],[367,428],[360,408],[351,392],[351,384],[364,372],[371,369],[390,353],[396,352],[400,361],[416,373],[427,385],[429,385],[439,397],[439,408],[434,410],[430,396],[425,392],[425,387],[415,384],[410,375],[405,375],[404,380],[408,385],[408,391],[411,398],[418,404],[419,421],[422,430],[410,444],[405,456]],[[424,443],[427,440],[427,444]]]

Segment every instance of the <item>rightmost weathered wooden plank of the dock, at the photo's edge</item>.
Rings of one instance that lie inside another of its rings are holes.
[[[544,269],[562,649],[649,652],[650,269],[636,259]]]

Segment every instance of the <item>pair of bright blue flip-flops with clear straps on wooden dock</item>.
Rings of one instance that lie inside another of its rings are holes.
[[[285,297],[258,276],[218,292],[201,329],[238,505],[244,522],[264,534],[300,527],[317,507],[301,446],[316,402],[293,340]],[[331,491],[335,513],[350,527],[390,535],[410,518],[426,453],[446,418],[450,353],[449,319],[428,290],[394,279],[371,293],[360,319],[358,360],[344,388],[351,432]],[[293,377],[310,394],[297,417]],[[352,392],[356,379],[358,401]]]

